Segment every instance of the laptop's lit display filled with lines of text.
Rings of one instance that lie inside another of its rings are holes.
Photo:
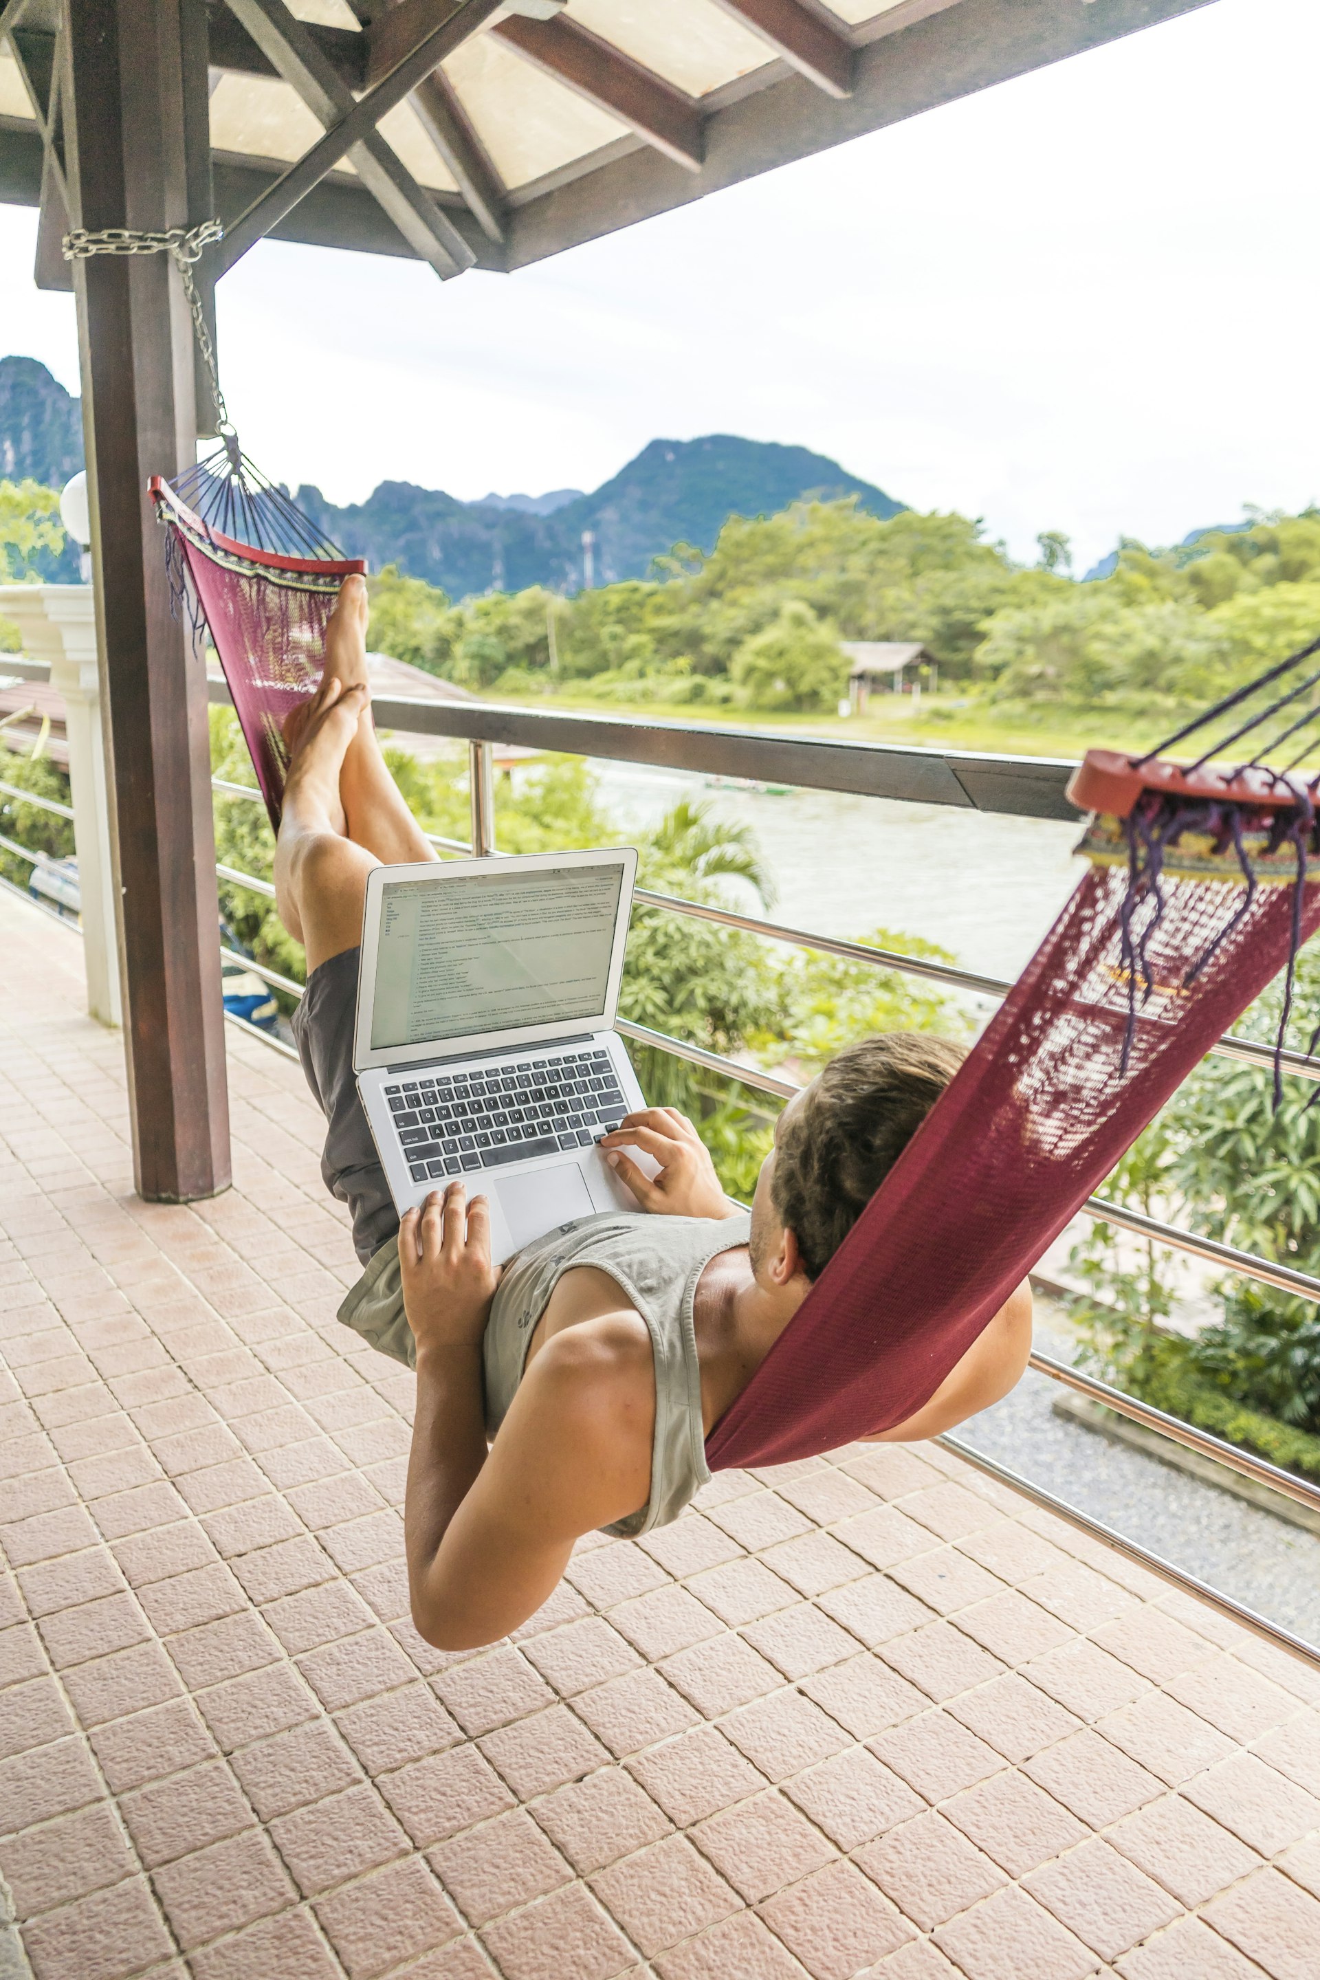
[[[372,1051],[598,1018],[621,885],[619,861],[386,881]]]

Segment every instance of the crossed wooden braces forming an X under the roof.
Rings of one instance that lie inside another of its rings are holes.
[[[362,182],[390,212],[410,244],[410,230],[416,230],[418,224],[425,226],[429,246],[416,251],[422,251],[422,259],[429,261],[439,275],[471,267],[473,249],[453,222],[441,214],[435,200],[404,170],[376,125],[497,10],[499,0],[461,0],[459,6],[449,8],[439,22],[422,34],[410,53],[402,55],[390,73],[356,103],[330,73],[329,63],[321,59],[311,36],[301,34],[303,22],[289,14],[283,0],[230,0],[230,4],[261,51],[325,125],[325,137],[226,230],[224,267],[232,267],[239,255],[269,234],[342,156],[352,158]],[[362,160],[366,160],[366,170]],[[386,204],[394,194],[406,194],[406,198],[396,200],[398,212]],[[451,261],[449,267],[441,265],[445,255]]]

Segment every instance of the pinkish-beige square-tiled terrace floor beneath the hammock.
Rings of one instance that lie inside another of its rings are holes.
[[[141,1204],[77,939],[0,944],[6,1980],[1316,1980],[1320,1677],[938,1449],[427,1649],[299,1069],[234,1040],[236,1188]]]

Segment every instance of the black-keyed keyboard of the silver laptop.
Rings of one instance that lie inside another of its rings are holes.
[[[588,1148],[627,1113],[608,1051],[418,1075],[384,1093],[414,1182]]]

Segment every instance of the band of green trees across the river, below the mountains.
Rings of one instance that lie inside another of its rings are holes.
[[[1039,543],[1023,568],[960,515],[801,501],[574,598],[534,586],[451,604],[384,570],[370,638],[475,689],[770,713],[833,711],[841,642],[914,640],[988,709],[1124,719],[1203,703],[1320,630],[1320,513],[1253,513],[1172,550],[1124,539],[1086,584],[1067,537]]]

